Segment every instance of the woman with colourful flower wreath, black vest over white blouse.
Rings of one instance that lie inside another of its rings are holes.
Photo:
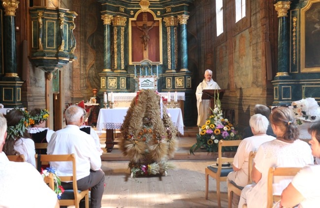
[[[34,108],[30,111],[31,128],[28,129],[34,143],[48,143],[51,139],[53,130],[46,128],[49,112],[46,109]],[[36,149],[38,154],[47,154],[46,149]]]

